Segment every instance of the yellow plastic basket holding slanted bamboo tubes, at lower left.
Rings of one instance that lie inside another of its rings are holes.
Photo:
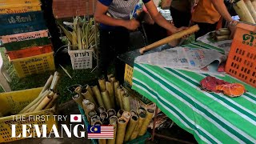
[[[0,94],[0,112],[2,114],[8,114],[10,116],[0,118],[0,143],[2,142],[12,142],[23,138],[11,138],[11,124],[16,124],[16,134],[22,132],[22,124],[38,124],[39,127],[42,124],[47,125],[47,134],[50,134],[51,127],[55,124],[57,126],[57,122],[54,120],[55,106],[48,110],[40,110],[38,112],[30,112],[26,114],[17,114],[20,110],[22,110],[25,106],[27,106],[30,102],[32,102],[35,98],[38,97],[38,94],[41,92],[42,87],[29,89],[29,90],[19,90],[8,93]],[[28,119],[29,115],[50,115],[46,121],[16,121],[16,117],[21,117],[24,115],[26,119]],[[14,121],[13,121],[14,118]],[[33,132],[33,129],[30,129],[30,134]]]

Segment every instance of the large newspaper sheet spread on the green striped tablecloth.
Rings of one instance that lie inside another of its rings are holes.
[[[226,55],[217,50],[175,47],[135,58],[137,63],[189,70],[204,74],[222,75],[218,66],[226,61]]]

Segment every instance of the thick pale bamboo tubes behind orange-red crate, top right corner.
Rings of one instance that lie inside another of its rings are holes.
[[[239,0],[233,7],[242,22],[256,23],[256,0]]]

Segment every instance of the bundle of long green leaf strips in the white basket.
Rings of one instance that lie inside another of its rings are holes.
[[[69,40],[70,50],[86,50],[96,46],[98,30],[97,26],[95,26],[94,18],[81,18],[77,16],[74,18],[74,22],[63,23],[66,26],[59,22],[58,25]]]

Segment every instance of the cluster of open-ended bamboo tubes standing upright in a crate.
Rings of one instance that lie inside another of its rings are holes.
[[[154,110],[130,110],[130,96],[114,76],[98,79],[99,86],[78,86],[73,99],[81,106],[92,126],[114,126],[114,139],[99,139],[99,144],[122,144],[146,134]]]

